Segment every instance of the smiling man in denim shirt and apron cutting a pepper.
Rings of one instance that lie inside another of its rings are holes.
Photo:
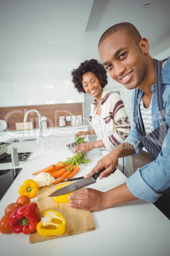
[[[159,62],[150,57],[148,50],[147,38],[141,38],[128,22],[110,27],[100,38],[98,52],[103,66],[112,79],[134,89],[134,124],[124,143],[98,161],[85,178],[103,167],[100,178],[107,177],[119,157],[138,154],[143,146],[152,155],[152,162],[138,168],[126,183],[107,192],[91,188],[75,192],[70,197],[71,207],[101,211],[143,199],[154,203],[170,219],[170,58]]]

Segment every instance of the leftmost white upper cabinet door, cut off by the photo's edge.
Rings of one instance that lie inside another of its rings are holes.
[[[13,90],[11,82],[0,82],[0,107],[13,105]]]

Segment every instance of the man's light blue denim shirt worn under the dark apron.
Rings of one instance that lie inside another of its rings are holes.
[[[157,106],[155,85],[152,86],[152,92],[152,118],[154,129],[157,129],[157,127],[163,124],[163,121]],[[138,94],[138,115],[142,94],[143,92],[140,90]],[[162,69],[162,97],[164,108],[166,109],[166,122],[170,127],[170,57],[167,59]],[[134,106],[134,92],[132,96],[132,106]],[[128,138],[126,138],[124,142],[133,145],[136,154],[141,152],[142,145],[134,124]],[[157,201],[164,189],[170,187],[170,128],[167,131],[166,138],[162,145],[162,151],[159,153],[157,159],[146,166],[138,168],[136,172],[128,178],[126,183],[134,196],[152,203]]]

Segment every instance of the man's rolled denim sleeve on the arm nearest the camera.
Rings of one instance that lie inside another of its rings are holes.
[[[170,129],[157,159],[138,168],[128,178],[127,186],[134,196],[154,203],[162,195],[162,191],[170,187],[169,155]]]

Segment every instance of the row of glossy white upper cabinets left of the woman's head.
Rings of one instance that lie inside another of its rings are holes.
[[[84,103],[71,80],[0,83],[0,107]]]

